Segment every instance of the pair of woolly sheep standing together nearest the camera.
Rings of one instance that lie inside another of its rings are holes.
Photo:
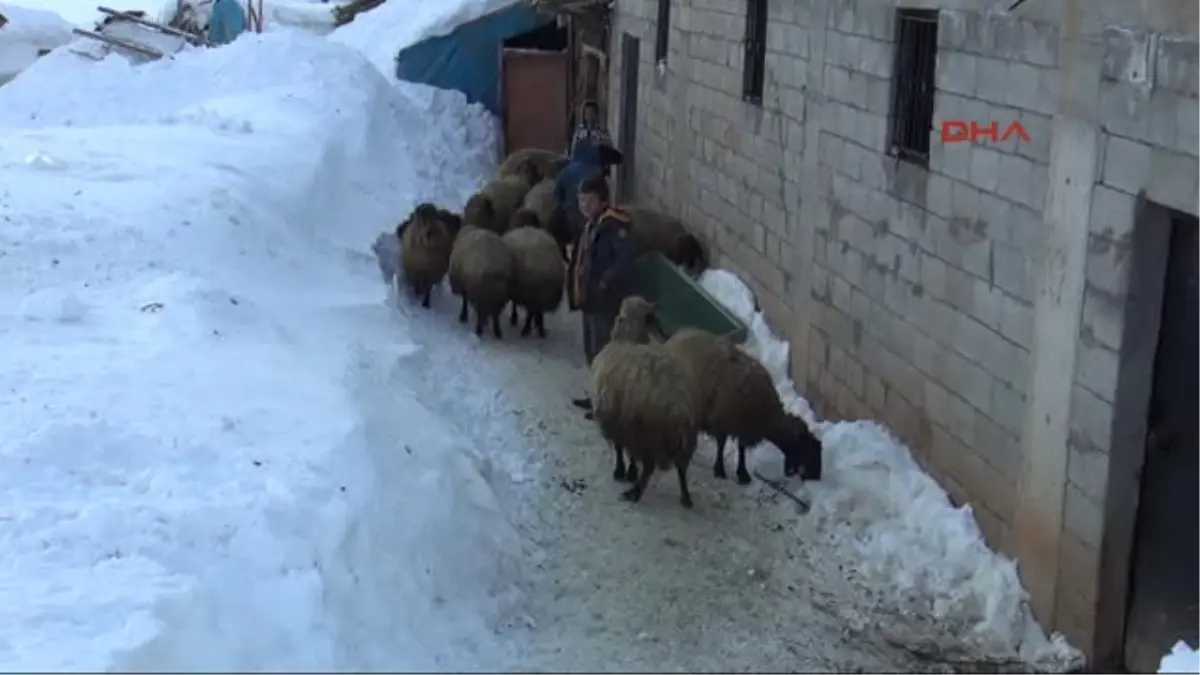
[[[770,374],[728,340],[684,328],[665,342],[654,305],[634,295],[620,305],[612,341],[592,363],[600,432],[617,454],[613,478],[634,483],[622,497],[642,498],[654,470],[674,467],[679,501],[691,508],[688,466],[701,432],[716,441],[713,474],[725,478],[725,443],[738,440],[738,483],[750,483],[746,450],[769,441],[784,473],[821,479],[822,446],[803,418],[788,413]],[[625,455],[629,464],[625,464]],[[641,464],[641,471],[638,471]]]

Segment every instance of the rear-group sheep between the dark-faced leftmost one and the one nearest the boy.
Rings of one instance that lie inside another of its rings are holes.
[[[512,293],[516,256],[499,234],[464,225],[450,253],[450,292],[462,298],[458,323],[467,323],[468,305],[475,309],[475,335],[482,338],[491,319],[492,334],[500,333],[500,315]]]

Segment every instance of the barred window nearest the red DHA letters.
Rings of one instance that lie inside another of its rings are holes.
[[[892,154],[925,166],[934,129],[937,10],[896,10],[892,72]]]

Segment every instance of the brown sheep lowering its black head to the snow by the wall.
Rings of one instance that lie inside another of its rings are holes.
[[[804,419],[784,410],[770,374],[758,359],[728,340],[695,328],[683,328],[664,348],[692,368],[700,401],[700,428],[716,440],[713,474],[725,478],[725,441],[738,440],[738,483],[748,485],[746,449],[769,441],[784,453],[784,473],[802,468],[821,479],[821,441]]]

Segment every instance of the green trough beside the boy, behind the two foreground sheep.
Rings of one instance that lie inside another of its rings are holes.
[[[746,324],[658,251],[638,256],[634,263],[632,287],[635,293],[654,303],[665,338],[680,328],[698,328],[724,335],[734,345],[746,340]]]

